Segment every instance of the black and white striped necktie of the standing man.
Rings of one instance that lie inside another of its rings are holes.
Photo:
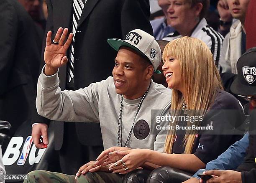
[[[73,33],[73,41],[69,47],[68,51],[68,59],[69,62],[67,64],[67,84],[70,84],[70,81],[72,83],[74,82],[72,79],[74,78],[74,41],[76,38],[76,31],[77,31],[77,25],[80,20],[80,17],[82,15],[82,11],[84,9],[84,5],[87,2],[87,0],[74,0],[73,1],[73,14],[72,14],[72,33]],[[74,87],[74,86],[73,86]]]

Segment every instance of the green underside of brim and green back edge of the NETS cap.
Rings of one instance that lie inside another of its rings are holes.
[[[117,38],[108,38],[107,39],[108,44],[114,48],[115,51],[119,51],[121,46],[127,46],[129,48],[132,48],[133,50],[137,51],[139,54],[141,54],[142,56],[146,56],[144,53],[142,53],[138,48],[136,48],[135,46],[131,45],[130,43],[127,43],[125,41],[123,41],[122,39],[117,39]],[[148,58],[146,56],[146,58]],[[155,70],[154,71],[156,74],[161,74],[161,72],[159,70]]]

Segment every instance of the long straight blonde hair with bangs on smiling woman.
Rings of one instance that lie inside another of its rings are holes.
[[[163,60],[172,56],[179,60],[181,69],[181,81],[186,89],[187,107],[192,111],[189,115],[203,116],[214,102],[218,89],[223,89],[220,74],[213,61],[213,56],[207,45],[192,37],[177,38],[168,43],[163,52]],[[172,115],[179,114],[184,98],[177,89],[172,89]],[[195,114],[197,113],[197,114]],[[170,125],[176,125],[173,122]],[[187,125],[192,125],[187,122]],[[200,125],[200,121],[193,125]],[[191,153],[197,130],[187,130],[184,137],[184,153]],[[170,130],[166,136],[164,150],[172,153],[176,130]]]

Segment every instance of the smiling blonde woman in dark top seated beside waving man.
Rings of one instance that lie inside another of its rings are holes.
[[[233,135],[232,130],[225,135],[230,124],[234,126],[243,121],[243,112],[238,100],[223,91],[218,69],[207,45],[197,38],[177,38],[164,48],[163,60],[166,82],[172,88],[172,116],[198,116],[202,120],[195,121],[194,118],[192,122],[190,118],[190,121],[171,122],[170,126],[178,125],[186,130],[168,131],[164,153],[146,149],[122,151],[120,147],[111,147],[102,152],[97,165],[106,161],[115,162],[110,166],[113,173],[128,173],[138,167],[160,166],[151,173],[148,182],[169,183],[173,180],[170,176],[174,171],[172,168],[196,172],[241,138],[241,135]],[[225,109],[236,110],[230,112]],[[192,125],[208,127],[208,130],[193,130]],[[211,131],[210,127],[215,130]],[[107,157],[108,152],[111,152],[110,157]],[[128,170],[123,169],[123,163]],[[188,178],[184,176],[174,182]]]

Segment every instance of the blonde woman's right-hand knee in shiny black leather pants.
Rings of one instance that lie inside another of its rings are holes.
[[[150,173],[146,183],[182,183],[192,175],[176,168],[160,167]]]

